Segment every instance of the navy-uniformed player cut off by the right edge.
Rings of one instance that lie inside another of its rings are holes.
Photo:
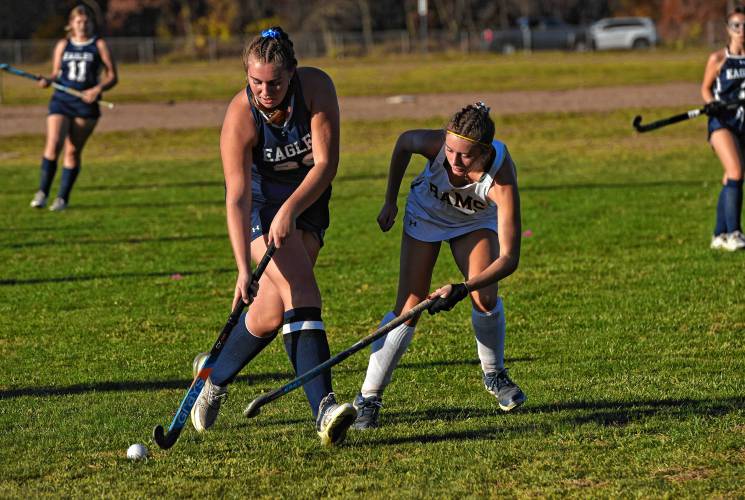
[[[745,249],[740,225],[745,107],[730,110],[723,104],[745,99],[745,8],[727,16],[727,34],[727,46],[709,56],[701,96],[709,112],[709,142],[724,167],[711,248],[735,251]]]

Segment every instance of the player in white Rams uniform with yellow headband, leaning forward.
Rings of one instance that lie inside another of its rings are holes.
[[[494,122],[483,103],[456,113],[446,130],[409,130],[398,138],[385,203],[378,215],[383,231],[395,222],[396,200],[411,156],[424,156],[427,165],[411,184],[403,221],[398,297],[381,324],[427,297],[440,244],[450,243],[465,281],[434,291],[431,296],[439,298],[429,312],[449,311],[471,297],[483,382],[497,397],[499,407],[509,411],[526,398],[504,368],[504,307],[497,283],[517,269],[520,200],[512,159],[505,145],[493,138]],[[365,381],[354,402],[359,411],[355,428],[378,426],[383,390],[415,326],[412,320],[372,344]]]

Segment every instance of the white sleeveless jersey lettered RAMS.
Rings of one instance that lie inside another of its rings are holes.
[[[488,197],[494,177],[504,162],[505,145],[492,141],[494,161],[481,178],[456,187],[445,167],[445,145],[411,183],[404,231],[420,241],[446,241],[477,229],[497,231],[497,206]]]

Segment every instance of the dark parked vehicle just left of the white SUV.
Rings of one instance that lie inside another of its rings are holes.
[[[482,42],[487,50],[514,52],[528,50],[585,50],[589,46],[587,29],[547,16],[521,17],[509,29],[486,29]]]

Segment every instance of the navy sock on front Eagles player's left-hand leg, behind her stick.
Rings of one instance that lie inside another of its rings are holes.
[[[246,328],[246,313],[241,314],[212,368],[212,383],[220,386],[231,383],[243,367],[271,344],[276,336],[275,332],[269,337],[256,337]]]

